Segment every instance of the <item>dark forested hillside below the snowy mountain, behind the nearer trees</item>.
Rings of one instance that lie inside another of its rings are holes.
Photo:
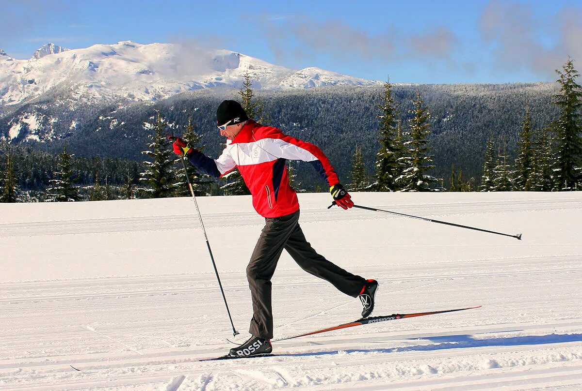
[[[556,107],[552,94],[553,83],[484,84],[484,85],[393,85],[396,109],[402,118],[403,131],[411,114],[412,100],[420,92],[431,114],[431,154],[434,174],[450,177],[452,164],[463,171],[463,178],[480,180],[485,145],[489,135],[496,142],[508,144],[514,155],[517,135],[529,107],[532,125],[542,127],[554,120]],[[382,87],[322,87],[292,92],[257,91],[264,103],[268,124],[281,128],[295,137],[320,145],[345,178],[351,168],[356,144],[362,148],[365,166],[373,174],[375,153],[378,151],[378,118]],[[55,97],[58,102],[59,97]],[[208,155],[218,155],[223,139],[215,127],[215,110],[222,99],[239,98],[237,91],[199,91],[173,96],[165,101],[116,103],[114,106],[86,107],[67,110],[63,105],[37,102],[21,107],[5,116],[2,133],[8,137],[15,119],[31,116],[42,120],[33,130],[42,142],[26,139],[30,134],[21,131],[12,143],[20,141],[29,148],[58,153],[66,145],[78,157],[117,157],[141,162],[147,134],[143,124],[158,110],[173,124],[169,131],[182,134],[191,116],[195,130],[203,136]],[[50,120],[57,118],[58,120]],[[71,124],[74,124],[72,126]],[[24,141],[26,139],[26,141]],[[44,140],[44,141],[43,141]],[[297,175],[307,189],[314,189],[321,180],[310,171],[299,170]]]

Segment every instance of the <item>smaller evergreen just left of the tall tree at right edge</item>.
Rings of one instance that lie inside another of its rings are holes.
[[[532,191],[552,191],[554,188],[552,170],[552,135],[548,127],[542,128],[534,140],[531,175],[528,178],[528,189]]]

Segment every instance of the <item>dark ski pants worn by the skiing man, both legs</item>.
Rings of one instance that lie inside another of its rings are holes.
[[[287,216],[265,218],[265,227],[247,266],[253,299],[249,332],[260,338],[273,338],[271,278],[283,249],[303,270],[331,282],[346,295],[357,297],[366,282],[359,275],[343,270],[315,252],[299,227],[299,210]]]

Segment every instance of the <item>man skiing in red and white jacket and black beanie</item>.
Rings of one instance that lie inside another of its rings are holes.
[[[253,302],[251,338],[230,349],[229,355],[271,353],[271,278],[283,249],[303,270],[325,279],[346,295],[359,297],[364,306],[362,317],[370,316],[378,282],[347,272],[315,252],[299,226],[299,202],[289,185],[286,160],[311,163],[327,181],[338,206],[347,210],[354,205],[321,149],[285,135],[277,128],[256,123],[236,101],[223,101],[218,106],[217,126],[221,135],[227,138],[226,148],[218,159],[211,159],[190,148],[180,138],[175,139],[173,149],[177,155],[186,156],[191,164],[214,177],[221,177],[237,167],[251,192],[254,209],[265,217],[265,227],[247,266]]]

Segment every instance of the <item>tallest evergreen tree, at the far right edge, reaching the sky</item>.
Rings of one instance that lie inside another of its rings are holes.
[[[558,189],[573,190],[582,178],[582,87],[576,82],[580,74],[574,69],[574,60],[568,59],[563,72],[556,69],[556,73],[560,77],[560,92],[552,103],[559,107],[560,114],[555,122],[558,136],[555,180]]]

